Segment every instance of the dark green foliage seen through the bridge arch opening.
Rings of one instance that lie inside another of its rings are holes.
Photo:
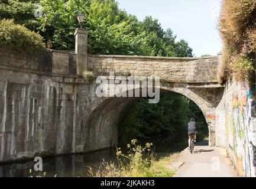
[[[187,122],[195,118],[199,139],[208,136],[208,126],[199,107],[186,97],[176,93],[161,94],[160,102],[149,104],[142,99],[131,106],[119,125],[119,144],[127,144],[130,138],[168,138],[169,144],[187,139]]]

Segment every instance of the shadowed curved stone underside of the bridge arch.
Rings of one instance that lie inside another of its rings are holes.
[[[176,93],[190,99],[188,96],[182,93],[174,92],[173,90],[160,89],[160,93]],[[119,123],[121,122],[122,118],[124,118],[124,115],[129,110],[129,107],[142,98],[145,97],[108,97],[99,103],[99,105],[89,113],[89,116],[86,119],[85,126],[87,131],[86,134],[88,135],[88,137],[86,137],[84,146],[86,151],[99,150],[96,149],[95,146],[100,149],[106,149],[118,145]],[[203,110],[200,107],[199,109],[203,113]],[[205,116],[204,113],[203,115]],[[210,133],[209,125],[208,128]]]

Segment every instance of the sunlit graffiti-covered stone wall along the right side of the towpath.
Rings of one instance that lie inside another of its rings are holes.
[[[216,137],[216,145],[227,149],[238,174],[246,177],[255,177],[254,104],[255,86],[229,81],[216,116],[216,133],[222,132]]]

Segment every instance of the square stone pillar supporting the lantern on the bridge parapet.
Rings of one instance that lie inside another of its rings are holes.
[[[76,74],[82,75],[87,70],[88,64],[88,31],[84,28],[76,28]]]

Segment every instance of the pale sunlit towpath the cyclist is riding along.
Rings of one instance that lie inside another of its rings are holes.
[[[210,147],[208,141],[196,144],[193,154],[182,151],[171,167],[177,169],[174,177],[237,177],[225,149]]]

